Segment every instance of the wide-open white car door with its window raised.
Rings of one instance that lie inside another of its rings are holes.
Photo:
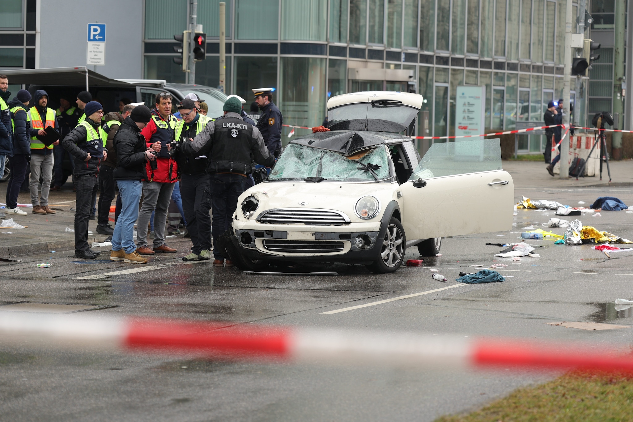
[[[514,183],[499,139],[433,144],[400,189],[406,239],[512,228]]]

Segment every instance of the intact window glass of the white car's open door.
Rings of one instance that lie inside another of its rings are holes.
[[[433,144],[409,180],[501,170],[499,138]]]

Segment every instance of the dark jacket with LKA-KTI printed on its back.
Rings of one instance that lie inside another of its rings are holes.
[[[193,141],[186,141],[182,151],[190,156],[208,156],[208,173],[249,174],[251,160],[272,167],[275,158],[268,152],[260,130],[246,123],[238,113],[210,121]]]

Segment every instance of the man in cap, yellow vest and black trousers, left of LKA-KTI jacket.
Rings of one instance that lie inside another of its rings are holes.
[[[206,127],[212,118],[198,113],[196,104],[185,98],[178,104],[178,111],[182,120],[178,121],[175,130],[175,140],[191,139]],[[170,148],[171,151],[171,148]],[[208,160],[203,154],[189,156],[180,148],[172,152],[178,164],[180,175],[180,197],[182,209],[187,221],[187,231],[191,237],[191,254],[182,258],[183,261],[211,259],[211,191],[209,190],[209,175],[206,172]]]

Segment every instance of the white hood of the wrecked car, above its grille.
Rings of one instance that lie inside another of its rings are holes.
[[[398,183],[305,183],[305,182],[265,182],[246,190],[237,202],[236,217],[246,220],[241,204],[246,197],[253,195],[260,204],[251,220],[263,211],[276,208],[320,208],[334,209],[347,214],[349,220],[379,221],[382,210],[392,200],[397,200]],[[354,211],[361,197],[372,195],[380,202],[379,213],[370,220],[363,220]]]

